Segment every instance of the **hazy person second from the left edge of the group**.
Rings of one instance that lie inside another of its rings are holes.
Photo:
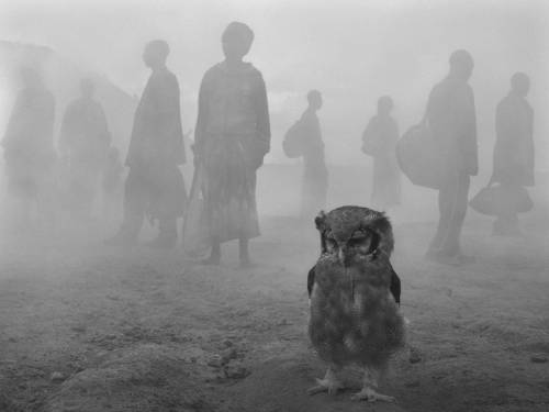
[[[71,209],[89,218],[111,133],[103,108],[94,99],[93,81],[83,79],[80,90],[81,97],[67,107],[63,118],[59,148],[68,159]]]

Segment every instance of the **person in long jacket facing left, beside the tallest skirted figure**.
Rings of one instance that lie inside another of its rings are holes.
[[[159,222],[154,247],[177,243],[177,219],[182,215],[186,191],[178,166],[184,163],[179,83],[166,67],[168,43],[148,43],[143,62],[153,71],[135,111],[126,157],[130,171],[124,187],[124,218],[112,243],[137,241],[145,215]]]

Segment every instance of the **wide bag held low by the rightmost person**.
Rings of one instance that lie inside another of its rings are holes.
[[[534,202],[522,186],[512,188],[491,186],[481,189],[469,205],[482,214],[502,215],[509,210],[516,213],[529,212],[534,208]]]

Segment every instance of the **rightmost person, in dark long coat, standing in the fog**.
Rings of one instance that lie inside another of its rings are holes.
[[[534,110],[526,100],[530,79],[524,73],[511,78],[511,91],[497,104],[495,114],[496,141],[491,182],[501,185],[501,214],[494,222],[495,235],[518,235],[515,204],[524,186],[534,186]]]

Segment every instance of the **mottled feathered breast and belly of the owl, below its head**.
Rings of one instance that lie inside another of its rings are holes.
[[[366,361],[390,352],[402,339],[402,318],[384,281],[334,259],[315,267],[310,336],[325,360]],[[392,335],[396,331],[396,335]]]

